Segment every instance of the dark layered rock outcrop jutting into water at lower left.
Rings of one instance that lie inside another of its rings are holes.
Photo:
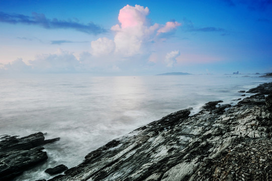
[[[41,132],[26,137],[3,135],[0,140],[0,180],[10,180],[47,159],[44,148],[47,143],[58,141],[59,138],[45,140]]]

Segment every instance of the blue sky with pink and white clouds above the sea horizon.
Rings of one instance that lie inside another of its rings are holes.
[[[0,0],[0,74],[272,72],[272,1]]]

